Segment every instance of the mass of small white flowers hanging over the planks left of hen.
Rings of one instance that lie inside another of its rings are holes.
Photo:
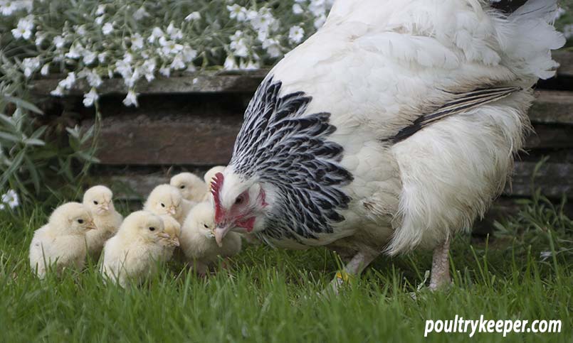
[[[121,77],[123,103],[137,106],[138,82],[159,75],[272,64],[322,26],[332,2],[0,0],[0,18],[14,19],[14,43],[36,47],[18,60],[26,79],[65,73],[56,97],[85,80],[83,104],[91,107],[103,80]]]

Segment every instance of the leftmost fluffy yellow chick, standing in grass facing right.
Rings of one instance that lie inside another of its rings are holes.
[[[56,208],[48,224],[34,232],[30,244],[30,266],[39,278],[55,264],[58,275],[64,268],[83,268],[85,234],[95,229],[90,210],[79,202]]]

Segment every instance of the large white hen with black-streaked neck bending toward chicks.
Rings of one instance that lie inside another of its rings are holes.
[[[336,1],[246,110],[213,187],[217,239],[235,230],[330,246],[353,256],[352,274],[382,252],[435,249],[431,288],[449,283],[451,236],[503,190],[530,127],[531,87],[554,75],[556,9]]]

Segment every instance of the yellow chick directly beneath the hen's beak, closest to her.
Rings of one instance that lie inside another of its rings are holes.
[[[228,232],[221,242],[222,246],[217,245],[212,234],[215,229],[214,217],[213,206],[209,202],[201,202],[189,212],[179,237],[185,257],[201,275],[205,275],[217,261],[217,256],[231,257],[241,251],[241,235],[236,232]]]

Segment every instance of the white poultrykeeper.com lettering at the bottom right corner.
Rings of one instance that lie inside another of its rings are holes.
[[[431,332],[467,333],[470,337],[477,332],[500,333],[503,337],[510,332],[558,333],[561,332],[561,320],[485,320],[483,315],[479,320],[465,320],[456,315],[453,320],[426,320],[424,337]]]

